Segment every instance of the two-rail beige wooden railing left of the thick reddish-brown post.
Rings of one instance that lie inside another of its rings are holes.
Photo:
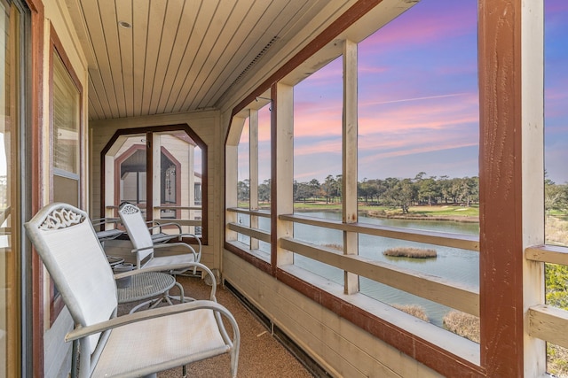
[[[249,216],[270,217],[270,212],[266,211],[250,211],[241,208],[229,208],[227,211]],[[441,245],[468,251],[479,251],[477,236],[384,227],[364,223],[347,224],[338,220],[322,220],[305,215],[287,214],[280,215],[279,218],[280,220],[288,220],[321,228],[382,236],[416,243]],[[265,243],[271,243],[271,235],[268,231],[250,228],[234,222],[227,223],[227,228],[241,235],[247,235]],[[458,282],[449,282],[434,275],[414,272],[371,258],[358,255],[344,255],[334,249],[299,241],[293,237],[281,238],[280,246],[285,250],[293,251],[306,258],[312,258],[328,266],[335,266],[375,282],[381,282],[392,288],[429,299],[440,305],[446,305],[461,312],[479,316],[479,294],[477,290],[468,288]]]

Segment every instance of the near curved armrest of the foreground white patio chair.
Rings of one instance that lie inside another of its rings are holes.
[[[231,312],[229,312],[225,308],[225,306],[219,305],[217,302],[210,301],[210,300],[196,300],[196,301],[193,301],[193,302],[188,302],[188,303],[179,304],[179,305],[169,305],[167,307],[159,307],[159,308],[154,308],[154,309],[145,310],[145,311],[141,311],[141,312],[134,312],[134,313],[131,313],[131,314],[128,314],[128,315],[123,315],[123,316],[116,317],[116,318],[113,318],[113,319],[110,319],[110,320],[102,321],[100,323],[93,324],[93,325],[87,326],[87,327],[78,326],[77,328],[75,328],[74,330],[72,330],[71,332],[69,332],[65,336],[65,341],[70,342],[70,341],[82,339],[86,336],[99,334],[100,332],[104,332],[108,329],[122,327],[122,326],[125,326],[127,324],[135,323],[135,322],[138,322],[138,321],[150,320],[150,319],[154,319],[154,318],[160,318],[162,316],[168,316],[168,315],[173,315],[173,314],[176,314],[176,313],[190,312],[190,311],[201,310],[201,309],[213,310],[214,312],[219,312],[223,316],[225,316],[225,318],[227,320],[229,320],[229,322],[231,323],[231,326],[233,327],[233,337],[236,337],[236,339],[238,341],[238,339],[240,337],[239,331],[238,331],[239,328],[237,326],[236,320],[234,320],[233,314]],[[218,321],[217,321],[217,323],[218,323]],[[235,332],[235,330],[236,330],[236,332]],[[235,343],[234,338],[233,338],[233,343]]]

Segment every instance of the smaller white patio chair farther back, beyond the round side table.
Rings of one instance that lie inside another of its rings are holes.
[[[120,205],[118,214],[122,220],[122,225],[130,237],[130,242],[134,246],[132,252],[136,253],[136,267],[138,269],[143,267],[163,266],[165,268],[164,270],[171,271],[170,266],[200,261],[201,241],[196,235],[176,234],[171,236],[180,241],[184,236],[194,237],[199,245],[198,251],[195,251],[193,246],[188,243],[156,244],[155,240],[152,239],[150,228],[147,228],[146,220],[144,220],[138,206],[124,202]],[[170,253],[170,251],[179,248],[184,249],[186,252],[181,254]],[[160,255],[156,254],[156,251],[160,251]],[[173,274],[181,274],[187,270],[189,270],[189,268],[185,267],[171,272]],[[196,269],[193,267],[193,274],[195,273]]]

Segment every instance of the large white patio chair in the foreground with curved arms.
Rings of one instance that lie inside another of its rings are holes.
[[[240,333],[231,312],[210,300],[116,317],[116,284],[106,255],[87,217],[69,204],[49,204],[25,224],[61,293],[75,329],[66,336],[79,346],[81,377],[141,376],[229,353],[237,374]],[[210,274],[206,266],[198,263]],[[149,270],[118,274],[126,276]],[[211,277],[215,279],[213,274]],[[229,337],[221,319],[233,328]]]

